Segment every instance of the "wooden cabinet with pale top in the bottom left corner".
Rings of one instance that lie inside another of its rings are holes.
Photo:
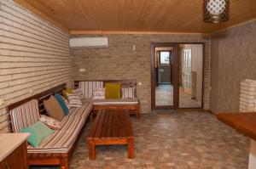
[[[26,138],[28,135],[0,134],[2,145],[0,146],[1,169],[28,169]],[[16,138],[16,139],[14,139]],[[20,139],[18,139],[20,138]]]

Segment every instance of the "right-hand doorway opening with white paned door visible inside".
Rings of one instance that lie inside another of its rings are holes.
[[[201,108],[204,44],[179,44],[179,108]]]

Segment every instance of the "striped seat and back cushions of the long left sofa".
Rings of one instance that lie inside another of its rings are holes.
[[[28,145],[28,153],[67,153],[79,136],[79,131],[84,126],[87,116],[92,110],[93,104],[84,103],[82,107],[71,108],[68,115],[61,121],[61,129],[55,130],[48,138],[34,148]],[[24,127],[29,127],[38,121],[39,109],[38,100],[33,99],[22,104],[14,110],[9,110],[14,132],[20,132]]]

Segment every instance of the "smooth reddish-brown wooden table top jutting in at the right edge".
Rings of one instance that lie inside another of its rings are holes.
[[[241,134],[256,140],[256,112],[219,113],[219,121],[235,128]]]

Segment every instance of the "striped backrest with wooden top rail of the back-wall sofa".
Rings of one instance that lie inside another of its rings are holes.
[[[75,88],[81,88],[84,97],[91,99],[93,90],[96,87],[104,87],[105,83],[120,83],[123,99],[137,98],[137,81],[136,80],[98,80],[98,81],[74,81]]]

